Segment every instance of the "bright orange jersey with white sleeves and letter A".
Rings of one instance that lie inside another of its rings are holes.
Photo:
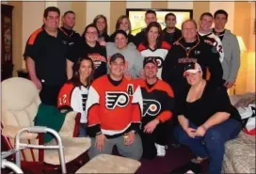
[[[122,78],[114,85],[108,75],[96,79],[88,91],[88,128],[100,126],[106,135],[122,134],[133,126],[139,127],[143,112],[140,87]],[[135,128],[135,129],[136,129]]]

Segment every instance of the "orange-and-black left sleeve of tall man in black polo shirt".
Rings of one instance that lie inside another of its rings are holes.
[[[26,41],[26,45],[24,49],[24,59],[26,59],[26,57],[31,57],[33,60],[36,59],[38,50],[40,48],[38,44],[39,42],[38,38],[42,31],[43,31],[42,28],[37,29],[30,35],[30,37]]]

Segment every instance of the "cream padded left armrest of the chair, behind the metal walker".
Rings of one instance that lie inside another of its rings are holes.
[[[18,126],[5,126],[2,129],[2,134],[6,137],[15,139],[16,134],[23,129],[24,127],[18,127]],[[38,134],[35,133],[24,133],[21,136],[21,139],[37,139]]]

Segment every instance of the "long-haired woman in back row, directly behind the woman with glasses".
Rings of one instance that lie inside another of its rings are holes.
[[[95,24],[99,30],[98,41],[102,46],[104,46],[105,42],[109,41],[106,17],[103,14],[97,15],[93,20],[93,24]]]

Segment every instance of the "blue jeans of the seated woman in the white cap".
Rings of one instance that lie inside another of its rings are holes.
[[[191,121],[189,127],[198,128]],[[221,173],[225,142],[235,138],[240,133],[241,128],[242,125],[237,120],[227,119],[209,128],[203,137],[191,138],[179,124],[174,129],[174,136],[180,144],[188,147],[195,155],[202,158],[209,157],[208,173]]]

